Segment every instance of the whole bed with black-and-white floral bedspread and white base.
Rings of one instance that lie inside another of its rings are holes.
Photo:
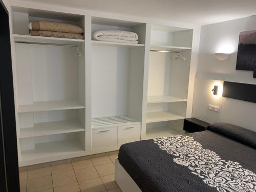
[[[256,191],[256,133],[227,123],[127,143],[115,180],[126,191]]]

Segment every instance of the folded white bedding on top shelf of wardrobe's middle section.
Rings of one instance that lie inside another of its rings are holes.
[[[138,35],[130,31],[101,30],[93,33],[94,40],[138,44]]]

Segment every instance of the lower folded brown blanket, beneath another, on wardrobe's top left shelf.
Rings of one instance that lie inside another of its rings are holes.
[[[55,31],[30,31],[30,35],[44,36],[44,37],[69,38],[69,39],[84,39],[84,36],[82,34],[62,33],[62,32],[55,32]]]

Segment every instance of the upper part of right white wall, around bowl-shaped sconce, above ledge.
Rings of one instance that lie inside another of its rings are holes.
[[[252,71],[236,70],[239,33],[256,30],[256,15],[201,28],[197,77],[256,84]],[[232,53],[225,61],[214,53]]]

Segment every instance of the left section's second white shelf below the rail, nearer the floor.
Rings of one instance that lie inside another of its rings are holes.
[[[19,138],[55,135],[85,131],[79,120],[35,123],[34,127],[20,129]]]

